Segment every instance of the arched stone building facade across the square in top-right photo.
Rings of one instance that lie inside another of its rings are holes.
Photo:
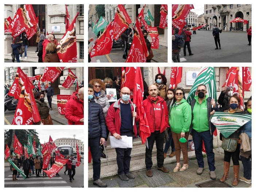
[[[236,17],[245,19],[248,24],[244,23],[229,23]],[[205,4],[204,19],[210,30],[217,25],[224,31],[229,31],[230,27],[235,27],[237,31],[242,28],[246,31],[249,26],[252,26],[252,5],[251,4]]]

